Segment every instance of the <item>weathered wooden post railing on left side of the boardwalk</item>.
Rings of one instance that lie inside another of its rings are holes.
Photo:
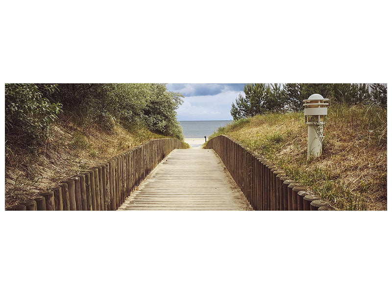
[[[175,148],[178,139],[150,140],[7,210],[116,210]]]

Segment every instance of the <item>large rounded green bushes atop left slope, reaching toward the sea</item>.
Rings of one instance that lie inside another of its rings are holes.
[[[183,102],[179,93],[165,84],[59,84],[53,100],[66,111],[111,130],[114,122],[127,128],[146,126],[149,130],[183,140],[175,109]]]

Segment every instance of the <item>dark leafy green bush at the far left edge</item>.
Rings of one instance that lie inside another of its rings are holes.
[[[60,103],[44,97],[56,85],[5,84],[5,139],[8,144],[31,147],[49,135],[49,125],[61,112]]]

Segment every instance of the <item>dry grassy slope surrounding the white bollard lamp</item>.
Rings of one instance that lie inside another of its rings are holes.
[[[328,109],[323,153],[307,161],[303,113],[268,114],[221,127],[297,182],[345,210],[387,209],[387,112],[376,106]]]

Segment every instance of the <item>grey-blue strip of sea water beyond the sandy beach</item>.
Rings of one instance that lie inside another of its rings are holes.
[[[185,138],[208,138],[220,126],[232,121],[180,121]]]

